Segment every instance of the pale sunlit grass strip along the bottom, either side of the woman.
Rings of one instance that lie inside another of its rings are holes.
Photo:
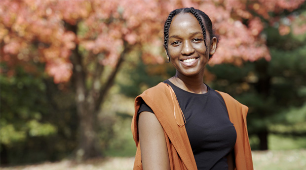
[[[305,170],[306,149],[253,151],[254,170]],[[97,158],[77,163],[63,160],[1,170],[132,170],[134,157]]]

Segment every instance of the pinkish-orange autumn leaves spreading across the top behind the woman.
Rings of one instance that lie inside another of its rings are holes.
[[[124,43],[141,47],[145,62],[161,63],[164,51],[156,47],[162,48],[167,15],[175,8],[191,6],[207,13],[216,33],[221,35],[212,64],[239,64],[262,57],[269,60],[266,39],[261,35],[265,25],[258,16],[273,24],[279,18],[273,18],[269,12],[292,11],[304,1],[1,0],[1,60],[7,62],[8,68],[17,63],[27,65],[25,61],[29,60],[45,62],[45,71],[54,77],[55,83],[66,82],[73,74],[70,56],[76,46],[93,55],[83,57],[103,54],[99,62],[104,65],[116,64]],[[68,31],[65,23],[77,25],[78,32]],[[298,26],[294,32],[305,31],[305,25]],[[281,34],[291,31],[282,27]]]

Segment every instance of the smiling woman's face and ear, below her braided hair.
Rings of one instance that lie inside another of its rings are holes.
[[[180,13],[172,19],[169,28],[168,53],[177,74],[202,76],[209,54],[214,54],[216,38],[213,43],[206,31],[206,51],[203,32],[197,19],[191,13]],[[205,53],[206,52],[206,53]]]

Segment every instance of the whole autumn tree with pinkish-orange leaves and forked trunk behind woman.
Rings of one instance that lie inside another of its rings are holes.
[[[132,5],[131,5],[132,3]],[[73,83],[79,118],[77,157],[100,154],[96,116],[124,58],[141,51],[145,63],[162,63],[162,26],[168,13],[194,6],[205,11],[222,36],[211,63],[269,60],[262,20],[269,11],[292,10],[303,1],[101,1],[2,0],[1,73],[16,66],[36,72],[37,63],[54,83]],[[268,5],[267,5],[268,4]]]

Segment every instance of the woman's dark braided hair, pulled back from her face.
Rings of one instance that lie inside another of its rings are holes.
[[[170,28],[173,17],[175,15],[179,14],[179,13],[182,13],[182,12],[183,13],[191,13],[197,19],[197,21],[199,22],[199,24],[202,28],[202,31],[203,31],[204,44],[205,44],[205,47],[206,47],[206,51],[207,51],[206,38],[205,38],[206,37],[206,28],[208,29],[210,39],[212,39],[214,36],[216,36],[213,33],[213,27],[212,27],[212,22],[211,22],[210,18],[203,11],[198,10],[198,9],[194,9],[193,7],[175,9],[175,10],[171,11],[167,20],[166,20],[166,22],[165,22],[165,25],[164,25],[164,48],[166,50],[167,56],[169,57],[169,61],[170,61],[170,56],[169,56],[169,52],[168,52],[169,28]],[[203,21],[204,21],[204,23],[203,23]],[[204,24],[205,24],[206,28],[205,28]],[[217,39],[218,39],[218,36],[217,36]],[[218,43],[218,40],[217,40],[217,43]],[[211,57],[212,57],[212,55],[209,55],[209,58],[211,58]]]

